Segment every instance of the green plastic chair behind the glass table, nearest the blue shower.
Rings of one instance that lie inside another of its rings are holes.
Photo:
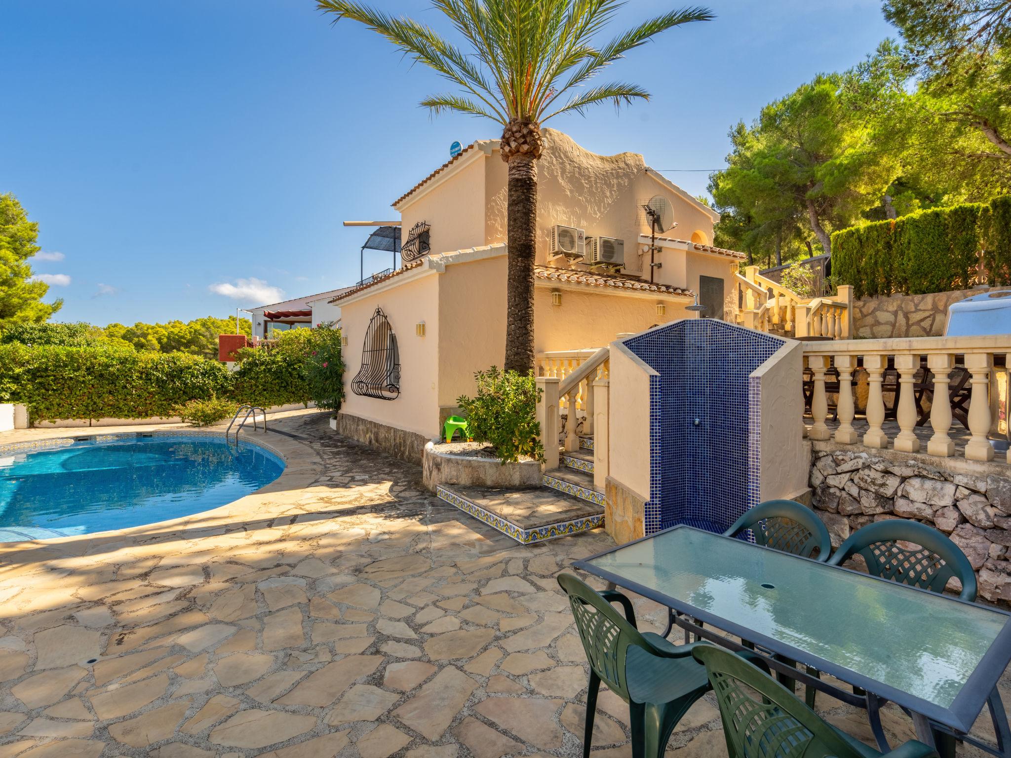
[[[751,530],[755,543],[772,550],[827,561],[832,540],[822,519],[796,500],[766,500],[750,508],[724,532],[725,537],[737,537]]]

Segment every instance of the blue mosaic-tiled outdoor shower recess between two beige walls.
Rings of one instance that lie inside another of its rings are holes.
[[[728,529],[759,495],[761,388],[750,374],[779,338],[713,318],[624,340],[650,366],[647,535],[678,524]]]

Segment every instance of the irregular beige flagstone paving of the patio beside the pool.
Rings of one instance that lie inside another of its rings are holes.
[[[326,414],[276,429],[297,436],[266,438],[285,476],[235,506],[0,545],[0,758],[580,755],[587,668],[555,576],[610,538],[523,547]],[[593,755],[631,756],[627,706],[599,706]],[[712,694],[668,753],[726,755]]]

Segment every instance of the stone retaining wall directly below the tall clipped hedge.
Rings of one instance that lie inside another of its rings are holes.
[[[853,300],[853,337],[941,337],[951,303],[989,290],[989,287],[982,287],[925,295],[891,295]]]

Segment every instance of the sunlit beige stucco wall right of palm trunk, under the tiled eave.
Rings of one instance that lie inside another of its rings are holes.
[[[559,289],[561,305],[551,304],[551,290]],[[603,290],[603,288],[602,288]],[[664,315],[656,304],[666,305]],[[688,316],[686,299],[659,299],[608,294],[586,288],[538,286],[534,290],[534,352],[603,348],[620,334],[636,334],[659,323]]]

